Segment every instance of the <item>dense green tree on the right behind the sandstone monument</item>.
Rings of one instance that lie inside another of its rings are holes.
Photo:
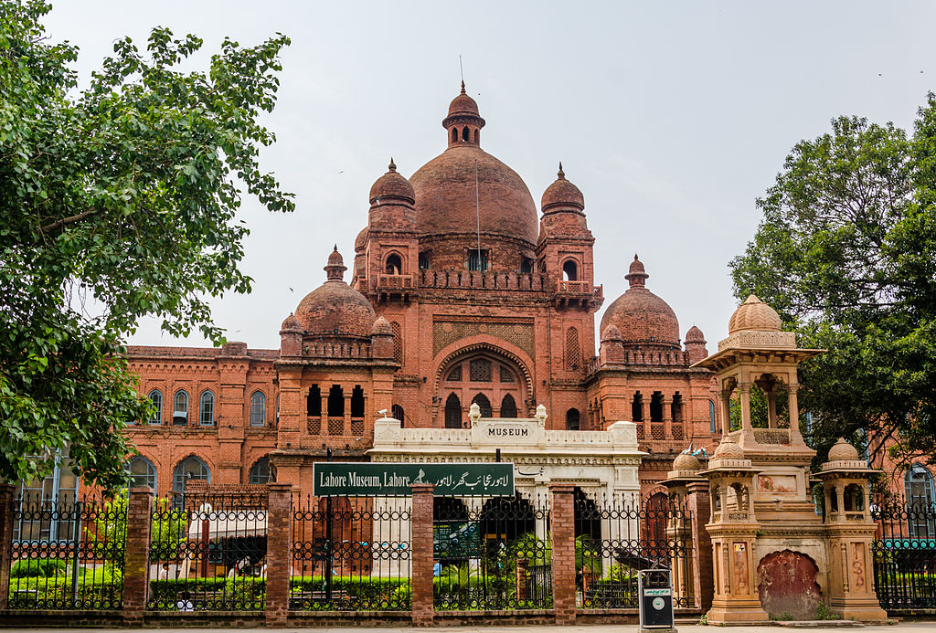
[[[936,96],[908,134],[856,117],[803,140],[757,200],[763,220],[731,263],[826,354],[800,368],[801,410],[825,454],[838,437],[936,455]]]

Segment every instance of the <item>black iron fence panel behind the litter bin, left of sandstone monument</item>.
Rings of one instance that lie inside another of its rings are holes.
[[[577,494],[578,608],[636,609],[637,571],[691,565],[687,558],[691,535],[685,529],[688,519],[688,511],[665,496],[591,498]],[[674,589],[674,607],[694,606],[691,586]]]

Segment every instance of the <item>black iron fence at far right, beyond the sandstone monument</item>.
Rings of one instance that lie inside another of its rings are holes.
[[[870,510],[878,524],[874,581],[881,607],[936,609],[936,507],[891,498]]]

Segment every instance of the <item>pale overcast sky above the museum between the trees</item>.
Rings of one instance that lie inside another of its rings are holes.
[[[254,292],[212,302],[229,339],[278,348],[331,245],[353,259],[389,157],[409,177],[446,148],[461,54],[488,122],[482,147],[537,207],[560,160],[585,195],[605,306],[638,252],[680,334],[698,325],[712,351],[737,305],[727,264],[753,236],[755,198],[833,117],[912,125],[936,88],[934,19],[927,2],[57,0],[46,24],[80,47],[84,77],[116,38],[142,45],[154,25],[202,37],[203,67],[225,36],[292,38],[262,167],[297,210],[245,201]],[[147,322],[130,342],[175,339]]]

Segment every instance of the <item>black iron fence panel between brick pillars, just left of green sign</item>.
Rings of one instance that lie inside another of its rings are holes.
[[[154,500],[150,591],[154,611],[262,611],[266,598],[264,495]]]

